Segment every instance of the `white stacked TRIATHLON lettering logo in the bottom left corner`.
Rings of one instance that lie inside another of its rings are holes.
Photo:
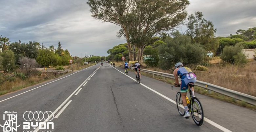
[[[3,132],[17,132],[17,128],[20,125],[17,125],[17,112],[14,111],[5,111],[3,114],[3,121],[5,121],[3,127]]]

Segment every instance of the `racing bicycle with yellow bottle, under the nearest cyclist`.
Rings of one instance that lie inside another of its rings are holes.
[[[189,109],[189,112],[192,115],[192,118],[194,120],[194,122],[196,123],[196,125],[200,126],[203,124],[203,107],[201,102],[199,101],[199,99],[197,97],[193,97],[191,95],[191,88],[195,86],[194,83],[188,83],[188,85],[190,86],[189,88],[189,100],[187,99],[187,106]],[[172,86],[173,87],[179,87],[179,86]],[[187,97],[186,97],[187,98]],[[176,94],[176,105],[178,108],[178,111],[180,113],[181,116],[185,115],[185,109],[183,107],[183,102],[181,99],[181,92],[179,91]],[[189,118],[189,117],[186,117]]]

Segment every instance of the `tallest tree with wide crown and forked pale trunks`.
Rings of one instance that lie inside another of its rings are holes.
[[[186,18],[188,0],[89,0],[92,17],[121,27],[118,37],[127,41],[129,59],[143,57],[148,40],[181,24]],[[137,56],[135,55],[138,48]]]

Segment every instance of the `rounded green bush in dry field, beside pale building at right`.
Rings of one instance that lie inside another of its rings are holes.
[[[242,53],[243,45],[226,46],[221,54],[221,59],[230,64],[244,64],[246,56]]]

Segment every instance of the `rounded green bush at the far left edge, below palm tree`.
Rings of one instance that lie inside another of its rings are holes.
[[[5,72],[13,71],[15,68],[15,57],[14,53],[10,50],[5,50],[3,53],[0,54],[3,58],[3,68]]]

